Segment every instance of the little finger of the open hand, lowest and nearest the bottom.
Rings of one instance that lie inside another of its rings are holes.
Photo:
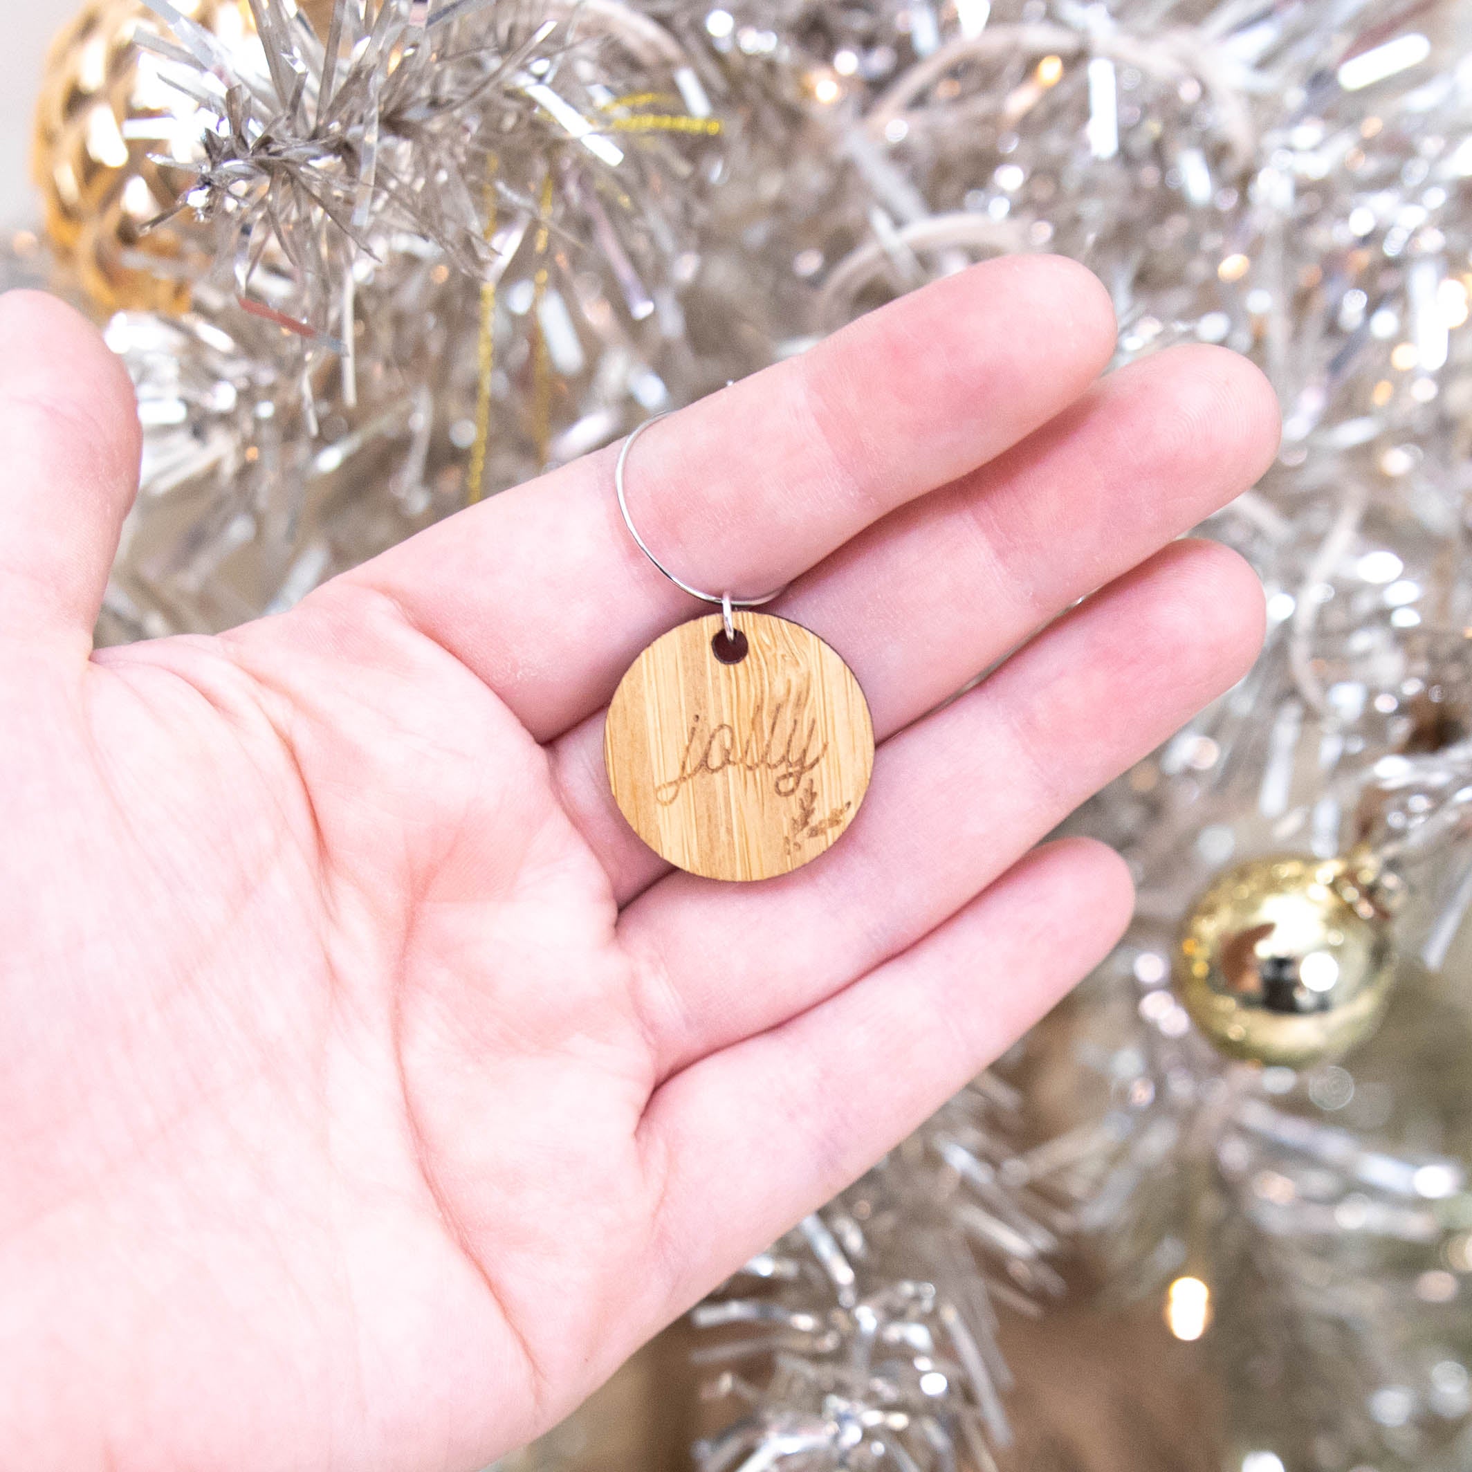
[[[1123,861],[1050,845],[911,949],[823,1005],[704,1058],[649,1103],[662,1183],[655,1260],[682,1312],[854,1182],[1108,952],[1130,911]],[[761,1160],[760,1178],[740,1161]],[[698,1254],[689,1244],[701,1244]]]

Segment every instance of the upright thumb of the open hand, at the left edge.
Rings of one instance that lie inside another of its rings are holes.
[[[138,486],[138,414],[122,364],[69,306],[0,296],[0,629],[91,648]]]

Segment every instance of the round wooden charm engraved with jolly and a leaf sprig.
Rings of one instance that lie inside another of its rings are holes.
[[[707,879],[771,879],[854,821],[874,727],[852,670],[770,614],[720,614],[657,639],[608,710],[604,760],[633,830]]]

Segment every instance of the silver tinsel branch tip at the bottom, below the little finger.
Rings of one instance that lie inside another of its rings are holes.
[[[748,1413],[702,1472],[997,1463],[1011,1373],[997,1306],[1063,1292],[1057,1211],[1004,1183],[1022,1095],[997,1072],[695,1310],[712,1397]]]

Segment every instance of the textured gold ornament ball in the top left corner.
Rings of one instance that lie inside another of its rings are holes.
[[[255,32],[247,0],[184,0],[180,9],[228,46]],[[190,187],[183,165],[199,152],[203,122],[138,50],[140,28],[165,32],[141,0],[88,0],[56,37],[32,171],[47,236],[102,311],[181,312],[190,300],[188,222],[149,234],[141,227]]]

